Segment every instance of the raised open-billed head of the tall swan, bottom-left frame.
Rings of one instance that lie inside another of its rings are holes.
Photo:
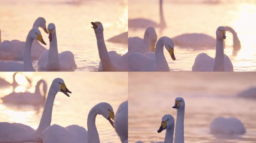
[[[61,78],[56,78],[52,81],[52,85],[51,88],[55,89],[57,92],[62,92],[65,95],[68,95],[68,93],[72,93],[71,91],[69,91],[64,83],[64,80]]]

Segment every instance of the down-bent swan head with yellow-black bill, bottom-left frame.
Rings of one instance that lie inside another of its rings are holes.
[[[102,115],[104,118],[109,120],[109,123],[112,125],[113,128],[115,128],[115,125],[113,122],[115,120],[115,113],[110,104],[108,104],[106,102],[101,102],[101,103],[95,105],[95,112],[97,112],[98,114]]]

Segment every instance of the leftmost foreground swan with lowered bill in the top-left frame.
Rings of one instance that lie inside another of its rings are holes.
[[[0,61],[0,71],[35,71],[31,61],[31,45],[34,39],[46,45],[39,29],[32,28],[25,42],[23,64],[16,61]]]

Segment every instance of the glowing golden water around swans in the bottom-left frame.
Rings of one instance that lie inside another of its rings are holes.
[[[87,116],[94,105],[100,102],[108,102],[112,105],[114,112],[116,112],[119,105],[128,99],[127,73],[87,72],[85,74],[84,72],[77,72],[76,74],[72,74],[69,72],[28,72],[26,74],[36,81],[42,77],[48,83],[48,88],[53,79],[61,77],[64,80],[65,85],[72,93],[70,97],[67,97],[61,92],[57,94],[54,101],[51,122],[51,124],[58,124],[63,127],[76,124],[87,129]],[[9,82],[12,82],[12,73],[2,72],[0,73],[0,77],[4,77]],[[22,78],[18,78],[17,80],[22,84]],[[35,84],[33,83],[33,85]],[[0,97],[9,94],[11,90],[11,87],[1,88]],[[34,92],[33,89],[32,92]],[[43,107],[41,106],[0,104],[0,121],[22,123],[36,129],[39,125],[42,112]],[[101,142],[121,142],[115,129],[103,116],[97,116],[96,126]]]

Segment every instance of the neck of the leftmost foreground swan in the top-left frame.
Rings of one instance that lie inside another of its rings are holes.
[[[31,61],[31,46],[34,39],[27,36],[23,55],[24,71],[35,71]]]

